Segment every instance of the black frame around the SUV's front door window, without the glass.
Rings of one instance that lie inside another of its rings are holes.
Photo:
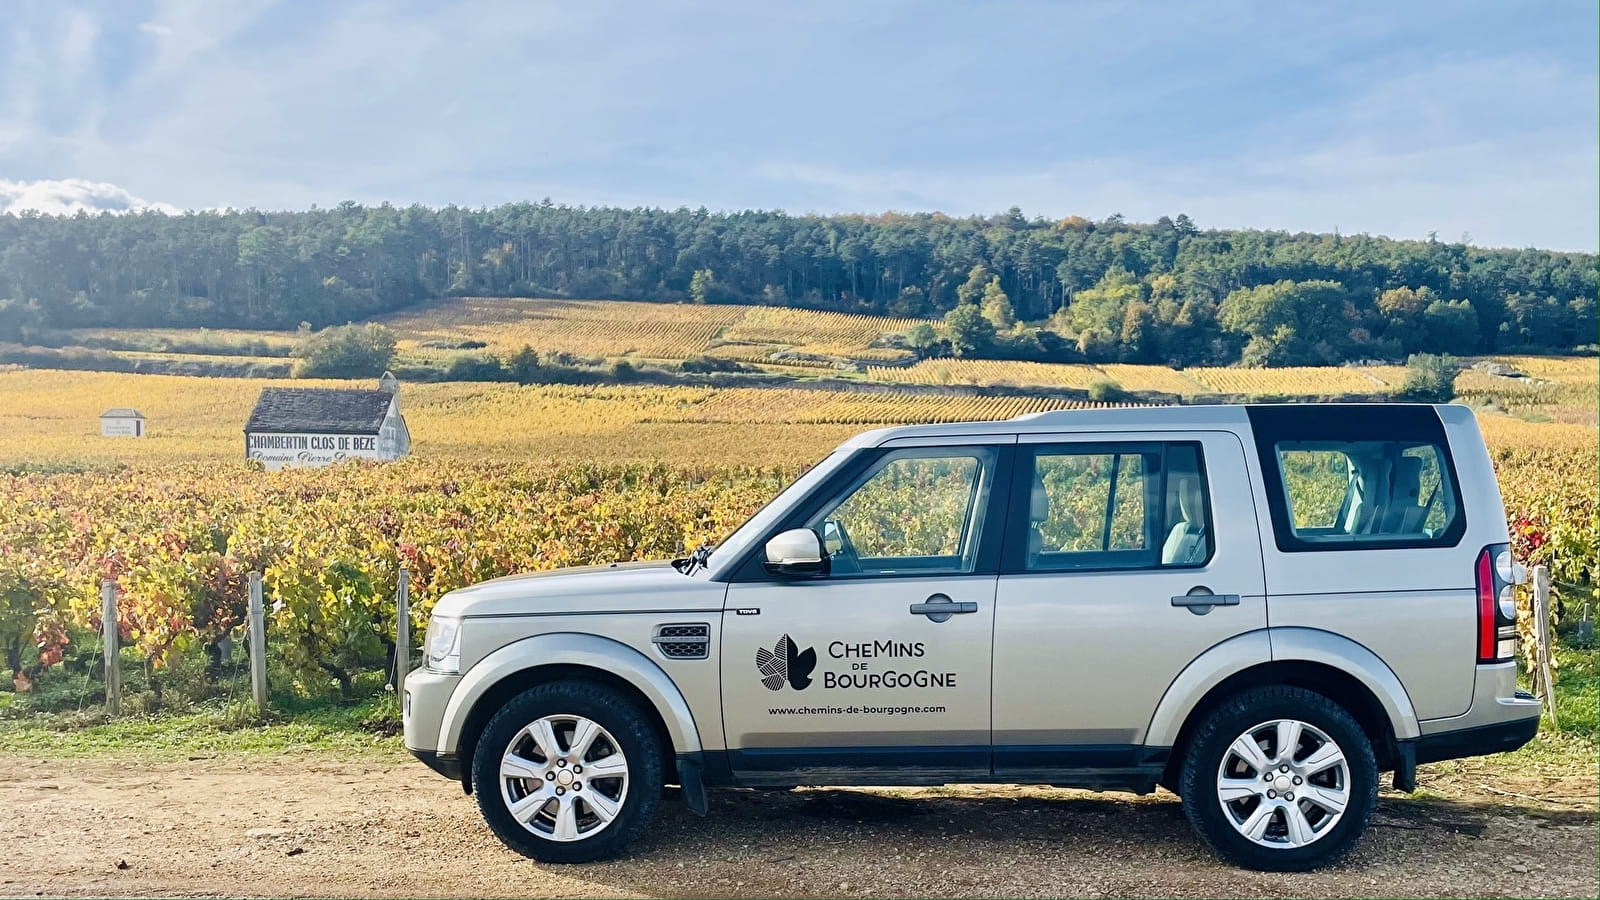
[[[861,479],[875,469],[878,461],[885,456],[909,456],[918,453],[923,456],[958,456],[963,455],[963,452],[970,452],[973,456],[994,453],[995,460],[994,482],[989,488],[984,519],[978,525],[978,557],[971,572],[870,572],[842,578],[830,575],[819,575],[816,578],[781,578],[766,572],[766,567],[763,565],[766,541],[782,532],[787,532],[789,528],[803,528],[813,516],[821,512],[821,509],[832,503],[840,493],[858,487]],[[906,578],[928,580],[994,577],[1000,572],[1000,546],[1005,538],[1006,504],[1011,496],[1006,485],[1013,480],[1011,469],[1014,456],[1014,444],[994,444],[986,440],[912,447],[891,445],[859,450],[850,461],[840,466],[838,471],[829,476],[827,480],[818,484],[810,493],[795,500],[789,511],[784,512],[784,516],[778,519],[778,522],[774,522],[766,533],[760,536],[760,540],[754,541],[744,557],[728,569],[726,581],[733,585],[859,585],[864,581],[894,581]]]

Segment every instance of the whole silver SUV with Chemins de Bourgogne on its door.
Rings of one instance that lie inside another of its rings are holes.
[[[616,852],[662,785],[1182,798],[1326,865],[1379,772],[1514,749],[1506,514],[1472,412],[1253,405],[869,431],[715,549],[434,610],[405,743],[512,849]]]

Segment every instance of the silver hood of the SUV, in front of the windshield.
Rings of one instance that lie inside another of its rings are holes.
[[[507,575],[440,597],[435,615],[506,617],[722,609],[728,586],[667,560],[613,562]]]

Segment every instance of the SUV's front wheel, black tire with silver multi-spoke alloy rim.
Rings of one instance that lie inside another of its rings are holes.
[[[472,756],[472,788],[483,820],[512,850],[542,863],[587,863],[618,854],[654,818],[662,754],[630,698],[558,681],[494,713]]]

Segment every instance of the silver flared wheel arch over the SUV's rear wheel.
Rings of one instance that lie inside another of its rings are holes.
[[[1366,647],[1312,628],[1254,631],[1200,655],[1162,698],[1146,745],[1171,748],[1163,783],[1173,783],[1187,740],[1206,713],[1266,684],[1304,687],[1344,706],[1371,738],[1381,770],[1398,764],[1398,741],[1421,733],[1398,676]]]

